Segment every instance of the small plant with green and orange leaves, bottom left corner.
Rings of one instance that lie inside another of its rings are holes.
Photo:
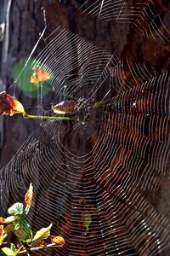
[[[31,208],[33,195],[33,186],[30,184],[30,188],[25,195],[25,204],[16,202],[12,207],[8,208],[8,218],[0,217],[0,256],[15,256],[26,252],[26,255],[41,247],[63,246],[65,240],[61,236],[50,236],[50,229],[53,224],[49,224],[48,227],[38,230],[35,235],[31,230],[31,225],[28,223],[26,216]],[[5,239],[13,232],[18,238],[17,246],[13,243],[9,243],[9,246]],[[44,240],[51,239],[50,244],[47,244]],[[34,247],[32,247],[32,245]],[[35,247],[37,245],[37,247]]]

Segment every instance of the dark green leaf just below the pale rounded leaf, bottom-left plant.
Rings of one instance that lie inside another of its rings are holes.
[[[28,222],[24,219],[18,219],[14,223],[14,234],[20,238],[21,241],[30,243],[32,241],[32,231]]]

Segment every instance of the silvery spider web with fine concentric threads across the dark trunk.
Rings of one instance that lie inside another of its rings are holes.
[[[156,3],[87,1],[83,17],[121,22],[154,44],[169,42]],[[53,222],[65,247],[52,255],[159,255],[170,222],[156,196],[168,176],[169,74],[59,26],[33,66],[51,76],[50,102],[77,102],[71,120],[40,120],[1,172],[1,205],[34,186],[34,230]],[[162,42],[161,42],[162,41]],[[160,43],[161,42],[161,43]],[[32,67],[33,67],[32,66]],[[51,115],[38,90],[38,113]],[[50,252],[42,252],[42,255]]]

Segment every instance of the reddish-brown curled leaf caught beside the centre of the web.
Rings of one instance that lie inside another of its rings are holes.
[[[74,113],[77,111],[77,102],[68,100],[51,106],[54,113]]]

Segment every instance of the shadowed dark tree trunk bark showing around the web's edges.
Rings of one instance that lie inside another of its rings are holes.
[[[65,4],[66,2],[66,4]],[[143,60],[155,67],[156,71],[165,68],[169,70],[170,58],[169,48],[162,44],[160,49],[155,48],[150,51],[150,44],[152,38],[145,42],[139,41],[138,34],[130,32],[129,25],[120,26],[115,25],[111,27],[110,22],[107,23],[107,30],[109,33],[105,35],[105,27],[103,31],[98,31],[98,20],[94,19],[89,22],[80,22],[79,25],[79,10],[77,5],[84,1],[61,1],[61,4],[50,0],[3,0],[0,3],[0,91],[7,90],[11,95],[16,96],[23,105],[33,106],[35,99],[24,95],[22,91],[14,84],[14,65],[22,58],[27,58],[34,45],[39,38],[39,33],[42,32],[45,23],[42,14],[42,6],[46,9],[46,18],[48,21],[48,33],[53,32],[56,27],[62,25],[71,32],[78,33],[83,38],[88,40],[102,49],[107,49],[110,52],[128,57],[134,61]],[[132,1],[135,2],[135,1]],[[160,1],[158,1],[160,3]],[[162,10],[161,18],[165,25],[170,24],[170,15],[167,8],[170,7],[168,1],[162,1],[166,10]],[[162,6],[160,5],[160,8]],[[88,20],[86,15],[82,16],[82,20]],[[85,24],[85,25],[84,25]],[[120,29],[121,28],[121,29]],[[102,34],[103,33],[103,34]],[[112,38],[115,35],[116,40]],[[103,37],[103,39],[102,39]],[[119,42],[119,44],[117,44]],[[41,49],[42,44],[39,44],[35,55]],[[157,53],[155,55],[155,53]],[[166,60],[166,61],[164,61]],[[20,146],[25,142],[31,131],[36,127],[36,122],[30,119],[23,119],[20,115],[14,117],[1,116],[0,117],[0,132],[1,132],[1,148],[0,148],[0,166],[5,166],[14,154],[19,150]],[[77,137],[77,135],[75,135]],[[66,141],[66,138],[65,138]],[[72,148],[74,148],[74,141],[72,141]],[[167,177],[162,181],[162,190],[160,191],[159,200],[152,199],[153,205],[156,205],[161,212],[165,212],[169,218],[169,181]],[[150,196],[150,195],[147,195]],[[2,214],[2,213],[1,213]],[[163,255],[168,255],[164,253]]]

